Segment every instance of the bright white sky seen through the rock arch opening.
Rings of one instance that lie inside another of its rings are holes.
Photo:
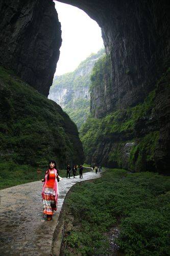
[[[62,46],[55,75],[74,71],[91,53],[104,47],[101,28],[84,11],[55,1],[62,30]]]

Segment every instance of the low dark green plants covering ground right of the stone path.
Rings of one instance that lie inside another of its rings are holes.
[[[71,188],[66,199],[74,226],[66,255],[111,255],[104,235],[120,222],[117,243],[126,255],[168,255],[170,178],[107,170],[101,179]]]

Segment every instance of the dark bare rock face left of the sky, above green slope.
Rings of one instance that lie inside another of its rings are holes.
[[[47,96],[61,46],[54,3],[1,0],[0,11],[0,64]]]

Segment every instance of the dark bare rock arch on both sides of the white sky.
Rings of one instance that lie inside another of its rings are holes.
[[[60,2],[81,8],[102,28],[112,66],[109,111],[142,101],[168,66],[168,1]],[[0,8],[1,64],[48,95],[61,46],[53,1],[1,0]]]

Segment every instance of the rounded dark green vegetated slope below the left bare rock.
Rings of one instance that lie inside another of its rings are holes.
[[[2,161],[38,166],[54,158],[59,167],[82,163],[77,127],[60,106],[4,68],[0,79]]]

